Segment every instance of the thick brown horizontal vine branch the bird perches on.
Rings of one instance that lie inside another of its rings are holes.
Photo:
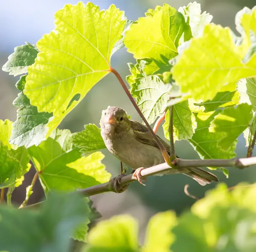
[[[212,166],[212,167],[222,167],[222,166],[229,166],[229,167],[237,167],[239,169],[244,169],[247,166],[255,165],[256,164],[256,157],[252,158],[234,158],[234,159],[194,159],[194,160],[189,160],[189,159],[180,159],[177,158],[172,162],[172,167],[169,166],[167,163],[161,163],[156,166],[149,167],[147,169],[143,169],[141,171],[142,178],[147,178],[152,175],[156,175],[158,173],[166,172],[169,170],[173,170],[173,167],[175,168],[188,168],[188,167],[205,167],[205,166]],[[133,177],[133,174],[126,175],[120,179],[120,186],[125,186],[128,185],[129,183],[132,183],[134,181],[137,181],[136,178]],[[101,194],[104,192],[116,192],[114,189],[114,183],[113,179],[110,180],[109,182],[99,184],[97,186],[91,186],[85,189],[79,190],[81,194],[84,196],[93,196],[97,194]],[[123,192],[120,189],[119,192]],[[72,193],[71,193],[72,194]],[[43,201],[42,201],[43,202]],[[38,202],[35,204],[32,204],[30,206],[25,206],[24,208],[27,207],[35,207],[39,206],[42,202]]]

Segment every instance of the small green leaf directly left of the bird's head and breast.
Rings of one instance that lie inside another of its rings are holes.
[[[82,132],[73,134],[72,142],[84,155],[106,148],[100,129],[95,124],[84,125]]]

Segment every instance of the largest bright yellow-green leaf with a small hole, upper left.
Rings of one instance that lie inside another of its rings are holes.
[[[38,41],[41,52],[29,67],[24,89],[38,112],[53,112],[47,137],[110,72],[111,56],[126,23],[123,11],[114,5],[99,11],[93,3],[79,2],[56,12],[55,30]],[[73,100],[79,94],[80,99]]]

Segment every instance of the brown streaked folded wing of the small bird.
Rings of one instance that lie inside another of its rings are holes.
[[[140,141],[141,143],[146,143],[148,145],[154,146],[157,149],[159,149],[159,146],[158,146],[157,142],[154,140],[154,137],[149,132],[149,130],[146,126],[144,126],[143,124],[138,123],[134,120],[130,120],[130,122],[131,122],[131,129],[133,130],[134,135],[135,135],[135,137],[138,141]],[[157,137],[159,138],[160,142],[163,144],[166,151],[170,155],[170,146],[169,146],[169,144],[167,144],[166,141],[161,139],[159,136],[157,136]]]

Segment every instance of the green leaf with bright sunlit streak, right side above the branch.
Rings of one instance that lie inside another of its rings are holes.
[[[236,108],[224,109],[212,120],[209,132],[223,132],[217,145],[228,149],[237,137],[249,126],[253,117],[252,106],[247,103],[239,104]]]

